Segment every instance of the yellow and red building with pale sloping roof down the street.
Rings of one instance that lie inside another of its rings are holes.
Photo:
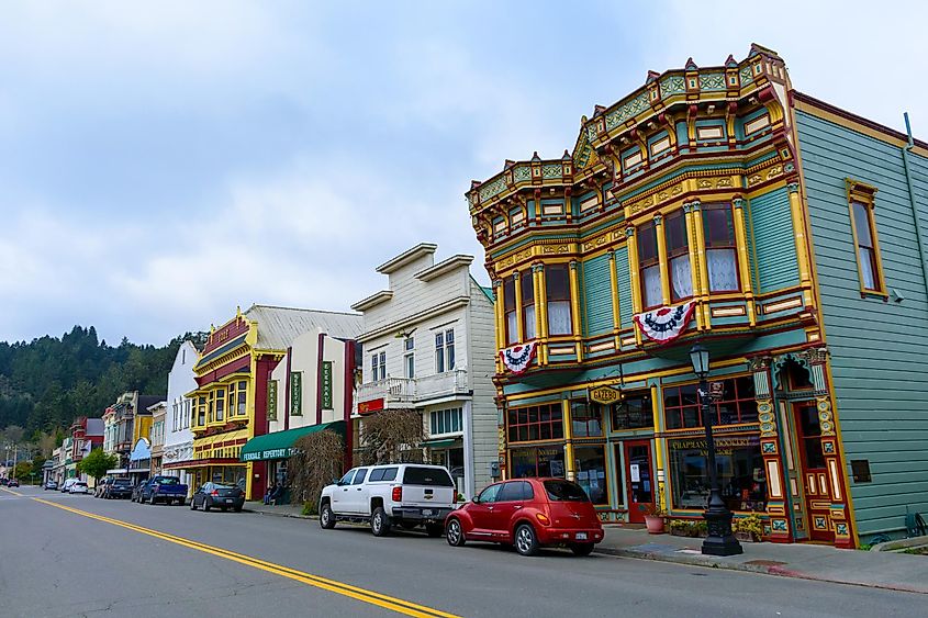
[[[268,430],[268,383],[293,340],[316,327],[339,333],[356,319],[346,313],[253,305],[219,328],[212,328],[193,367],[197,389],[191,431],[193,462],[186,469],[194,484],[237,483],[248,499],[260,499],[267,486],[264,461],[242,461],[245,443]]]

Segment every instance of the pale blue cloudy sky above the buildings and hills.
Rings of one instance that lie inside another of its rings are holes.
[[[79,324],[164,345],[253,303],[349,311],[422,241],[485,283],[471,179],[560,157],[648,69],[752,42],[797,90],[901,131],[908,111],[928,139],[928,4],[771,8],[2,2],[0,340]]]

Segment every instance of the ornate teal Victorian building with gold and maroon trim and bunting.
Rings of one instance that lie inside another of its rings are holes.
[[[904,529],[928,508],[926,153],[794,91],[754,45],[649,71],[573,153],[474,181],[504,474],[572,479],[605,520],[701,517],[700,341],[737,517],[837,547]]]

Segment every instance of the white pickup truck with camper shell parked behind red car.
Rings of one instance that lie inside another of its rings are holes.
[[[457,488],[440,465],[393,463],[353,468],[320,496],[320,525],[329,530],[336,521],[370,523],[377,537],[395,525],[405,530],[425,526],[429,537],[440,537],[445,517],[455,509]]]

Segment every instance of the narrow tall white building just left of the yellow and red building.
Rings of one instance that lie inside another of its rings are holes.
[[[192,400],[185,397],[197,389],[193,366],[199,353],[190,341],[183,341],[177,350],[174,366],[168,373],[167,412],[165,414],[165,438],[161,469],[165,473],[178,474],[180,482],[190,485],[190,474],[183,463],[193,459],[193,432],[190,430]],[[192,491],[192,487],[191,487]]]

